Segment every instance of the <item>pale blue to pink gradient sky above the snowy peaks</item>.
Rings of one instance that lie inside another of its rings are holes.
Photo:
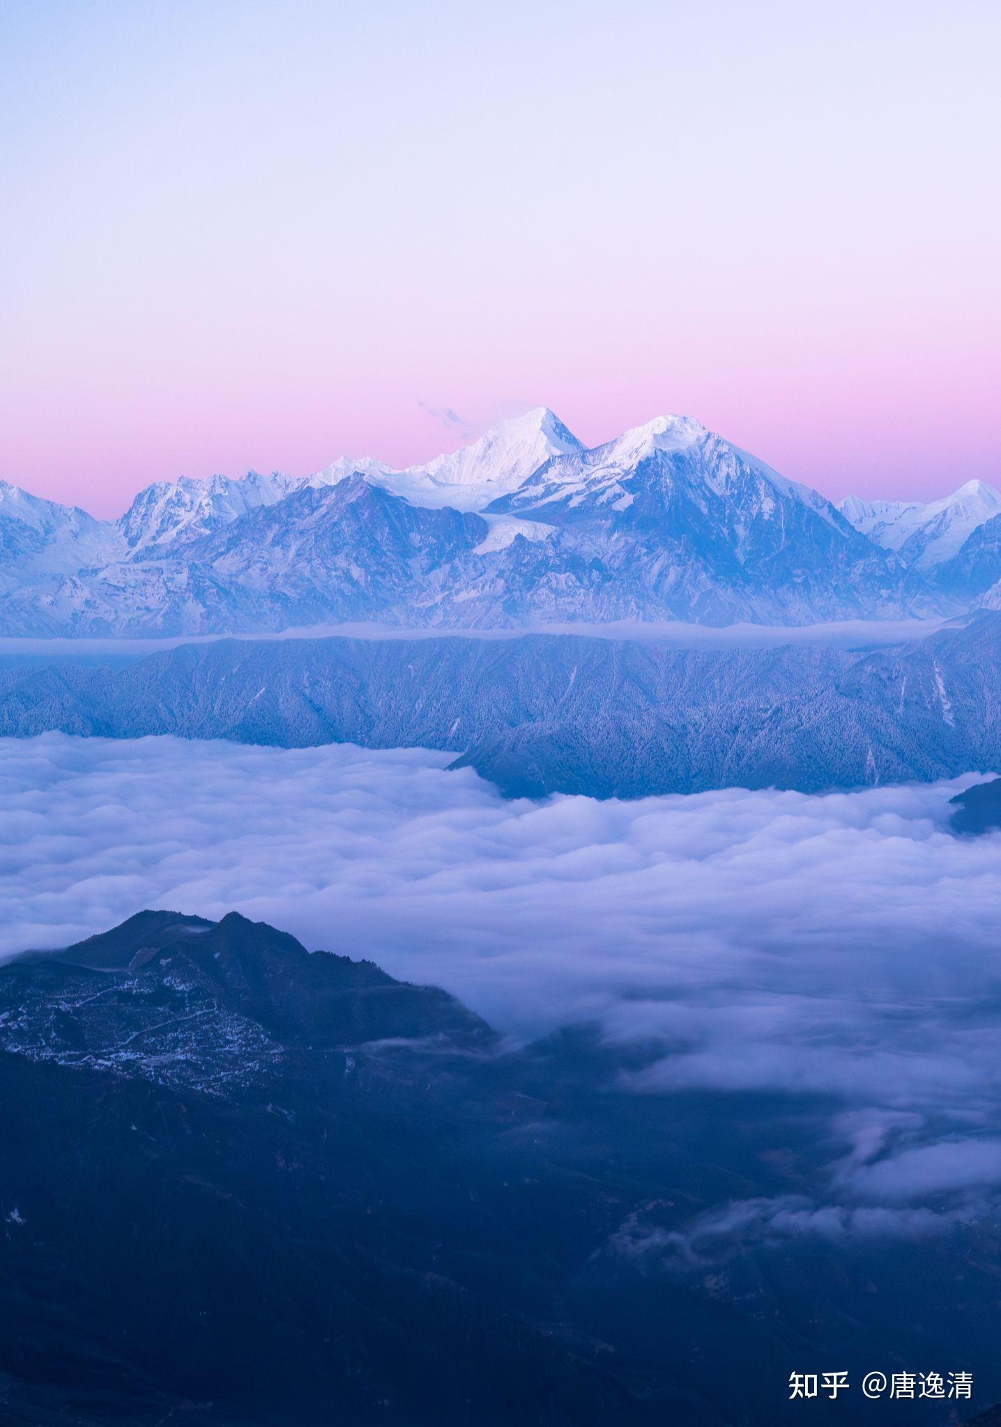
[[[0,16],[0,478],[408,464],[547,404],[1001,482],[995,6]]]

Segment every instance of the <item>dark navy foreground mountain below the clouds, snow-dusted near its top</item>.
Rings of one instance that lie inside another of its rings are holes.
[[[237,915],[7,963],[0,1420],[771,1427],[791,1371],[874,1366],[997,1398],[990,1222],[671,1254],[713,1206],[810,1193],[830,1102],[631,1093],[667,1050],[511,1049]]]

